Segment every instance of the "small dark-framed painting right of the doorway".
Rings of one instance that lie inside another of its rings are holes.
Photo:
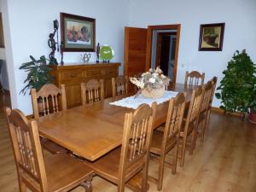
[[[221,51],[224,39],[224,23],[200,26],[199,50]]]

